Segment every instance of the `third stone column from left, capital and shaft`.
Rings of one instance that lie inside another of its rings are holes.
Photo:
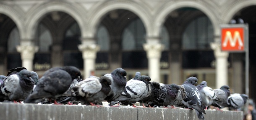
[[[149,65],[149,77],[151,81],[160,82],[160,58],[164,45],[162,44],[149,44],[143,45],[144,50],[147,53],[148,65]]]

